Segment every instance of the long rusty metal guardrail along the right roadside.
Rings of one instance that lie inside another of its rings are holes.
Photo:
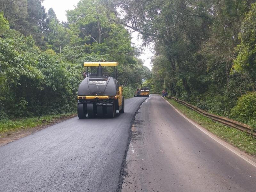
[[[213,121],[217,121],[219,123],[222,123],[228,127],[232,127],[232,128],[236,128],[236,129],[239,129],[241,131],[244,131],[244,132],[247,132],[248,134],[251,134],[253,136],[256,137],[256,132],[251,128],[250,125],[247,125],[247,124],[244,124],[244,123],[241,123],[241,122],[238,122],[238,121],[235,121],[233,119],[229,119],[227,117],[222,117],[222,116],[218,116],[218,115],[213,115],[211,113],[208,113],[194,105],[191,105],[185,101],[182,101],[182,100],[178,100],[176,99],[175,97],[169,97],[169,96],[166,96],[168,99],[173,99],[175,100],[176,102],[178,103],[181,103],[185,106],[187,106],[188,108],[196,111],[197,113],[200,113],[201,115],[203,116],[206,116],[206,117],[209,117],[210,119],[212,119]]]

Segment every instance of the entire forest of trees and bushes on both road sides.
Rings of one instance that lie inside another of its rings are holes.
[[[40,0],[1,0],[0,118],[74,111],[82,63],[111,60],[129,92],[147,80],[255,128],[255,2],[81,0],[60,23]],[[130,31],[154,44],[151,72]]]

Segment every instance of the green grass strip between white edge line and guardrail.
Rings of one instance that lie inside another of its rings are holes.
[[[208,131],[214,133],[216,136],[248,154],[256,155],[256,139],[253,136],[237,129],[214,122],[210,118],[205,117],[172,99],[166,100],[170,102],[175,108],[179,109],[188,118],[194,120]]]

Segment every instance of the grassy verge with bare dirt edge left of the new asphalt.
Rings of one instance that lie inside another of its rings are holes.
[[[40,125],[47,125],[59,119],[75,116],[76,113],[65,113],[60,115],[47,115],[40,117],[28,117],[15,120],[1,120],[0,121],[0,138],[5,132],[19,131],[21,129],[32,128]]]

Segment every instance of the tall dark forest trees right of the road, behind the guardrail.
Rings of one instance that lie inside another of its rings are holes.
[[[255,92],[254,3],[120,0],[116,6],[121,11],[116,14],[123,15],[123,19],[116,22],[138,31],[145,44],[154,44],[152,79],[148,81],[152,92],[166,89],[169,95],[230,116],[239,97]],[[252,110],[250,104],[247,107]],[[235,115],[235,108],[232,117],[246,121],[240,118],[239,110]],[[253,113],[246,115],[255,118]]]

